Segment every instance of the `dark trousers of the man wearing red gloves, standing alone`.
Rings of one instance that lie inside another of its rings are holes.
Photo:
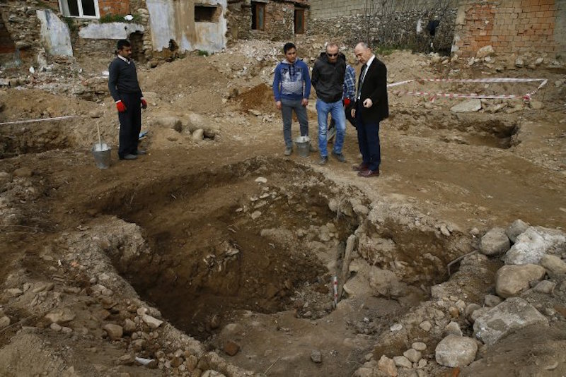
[[[141,131],[141,100],[139,93],[120,93],[122,102],[126,105],[125,112],[118,112],[120,119],[120,147],[118,156],[135,155]]]

